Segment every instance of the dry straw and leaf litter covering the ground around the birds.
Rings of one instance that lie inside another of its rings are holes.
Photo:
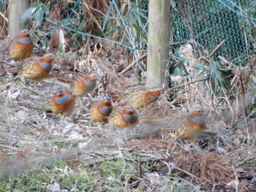
[[[1,47],[6,39],[1,39]],[[212,87],[203,69],[189,69],[191,76],[181,76],[159,101],[138,114],[165,117],[201,106],[208,111],[208,130],[216,137],[200,138],[192,146],[139,123],[138,134],[116,142],[118,130],[90,122],[90,104],[82,106],[77,99],[72,123],[50,112],[50,98],[59,88],[70,91],[72,74],[97,72],[102,78],[92,100],[110,94],[117,106],[127,88],[146,84],[146,74],[126,48],[98,41],[80,55],[69,53],[75,60],[58,56],[50,77],[37,86],[15,75],[16,64],[7,50],[0,54],[1,186],[20,189],[23,183],[26,191],[256,191],[255,116],[241,123],[242,94],[230,94],[233,100],[217,96],[217,85]],[[145,70],[143,54],[139,64]],[[255,76],[233,74],[233,88],[238,89],[238,77],[247,83],[246,96],[252,99],[246,107],[253,109],[255,91],[250,88]]]

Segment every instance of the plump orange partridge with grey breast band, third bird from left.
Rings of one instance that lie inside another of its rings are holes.
[[[75,107],[75,96],[68,91],[57,91],[50,100],[55,115],[71,115]]]

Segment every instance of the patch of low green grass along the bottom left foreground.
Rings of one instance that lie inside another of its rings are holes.
[[[67,169],[67,165],[68,169]],[[70,166],[71,165],[71,166]],[[59,161],[47,167],[44,172],[31,170],[0,181],[0,191],[49,191],[47,185],[54,177],[55,182],[61,185],[61,189],[76,188],[78,191],[92,189],[121,190],[124,189],[124,180],[129,176],[137,175],[137,169],[122,158],[111,161],[102,161],[94,166],[78,166],[74,160]],[[42,169],[41,169],[42,170]],[[69,172],[70,170],[70,172]]]

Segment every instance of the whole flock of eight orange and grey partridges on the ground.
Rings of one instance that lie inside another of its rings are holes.
[[[56,55],[48,53],[42,58],[32,58],[33,47],[30,31],[23,29],[10,43],[9,53],[14,61],[20,61],[23,77],[39,82],[49,76]],[[91,93],[97,87],[97,80],[99,80],[97,73],[89,74],[86,77],[79,74],[74,75],[70,82],[72,93],[57,91],[52,96],[50,100],[52,112],[55,115],[71,115],[75,108],[76,98],[82,98]],[[101,101],[92,104],[89,116],[92,122],[110,123],[116,128],[135,127],[139,121],[137,110],[157,101],[162,93],[163,90],[159,88],[148,89],[145,86],[138,86],[137,89],[129,91],[124,102],[126,106],[116,107],[116,109],[113,109],[110,96],[104,96]],[[146,126],[160,128],[170,137],[189,139],[190,142],[195,142],[197,136],[206,129],[204,115],[202,108],[195,107],[189,115],[183,117],[175,115],[165,118],[145,116],[140,121]]]

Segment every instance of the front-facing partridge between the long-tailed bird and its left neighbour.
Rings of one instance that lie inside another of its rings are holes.
[[[116,128],[133,128],[138,123],[138,113],[132,105],[118,107],[111,113],[108,123]]]

